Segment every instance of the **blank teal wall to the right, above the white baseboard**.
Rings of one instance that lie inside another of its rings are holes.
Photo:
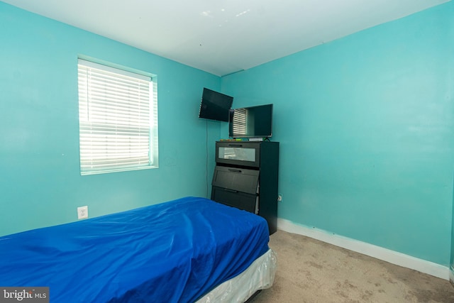
[[[275,104],[279,218],[449,264],[453,16],[449,2],[223,77],[236,107]]]

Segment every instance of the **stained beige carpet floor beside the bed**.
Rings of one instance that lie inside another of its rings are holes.
[[[275,283],[252,302],[454,302],[448,280],[277,231]]]

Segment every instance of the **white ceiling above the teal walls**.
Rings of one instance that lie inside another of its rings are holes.
[[[450,0],[2,0],[214,75]]]

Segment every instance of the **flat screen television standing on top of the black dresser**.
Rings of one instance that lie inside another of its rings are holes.
[[[270,138],[272,104],[231,109],[228,123],[231,138]]]

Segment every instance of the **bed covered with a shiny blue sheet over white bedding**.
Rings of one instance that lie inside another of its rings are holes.
[[[0,238],[0,286],[50,302],[245,302],[271,287],[265,219],[185,197]]]

